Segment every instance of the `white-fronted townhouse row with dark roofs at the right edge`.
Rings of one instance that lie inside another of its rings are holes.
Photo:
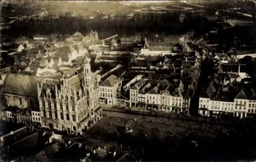
[[[238,118],[253,117],[256,114],[255,89],[230,85],[224,91],[209,86],[199,98],[199,114],[206,117],[220,117],[230,114]]]

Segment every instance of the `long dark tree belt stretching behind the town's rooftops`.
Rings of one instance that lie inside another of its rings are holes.
[[[73,34],[77,30],[87,33],[91,29],[99,32],[99,35],[111,36],[114,34],[130,35],[137,32],[154,32],[165,34],[179,34],[195,30],[200,33],[207,31],[209,25],[207,19],[200,16],[187,14],[183,24],[179,23],[179,13],[135,13],[131,19],[125,14],[117,14],[115,19],[87,20],[84,17],[72,17],[70,14],[62,14],[56,18],[54,15],[45,17],[34,16],[17,19],[10,29],[2,30],[4,36],[32,37],[34,34],[50,35]]]

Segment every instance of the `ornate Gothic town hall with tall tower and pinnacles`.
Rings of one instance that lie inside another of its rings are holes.
[[[80,76],[80,77],[79,77]],[[86,58],[82,75],[38,84],[42,127],[82,133],[102,118],[99,107],[99,84]]]

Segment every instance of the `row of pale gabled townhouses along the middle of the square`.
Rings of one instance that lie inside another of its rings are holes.
[[[141,79],[130,88],[130,103],[131,107],[188,113],[190,99],[181,81]]]

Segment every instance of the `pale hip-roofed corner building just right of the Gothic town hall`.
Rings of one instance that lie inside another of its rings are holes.
[[[100,85],[100,103],[108,105],[116,105],[118,95],[118,87],[120,82],[115,75],[106,78]]]

